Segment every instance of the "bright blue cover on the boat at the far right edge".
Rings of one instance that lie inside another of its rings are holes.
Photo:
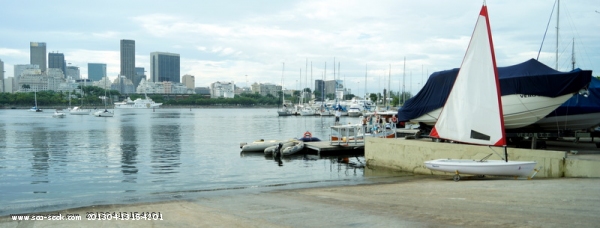
[[[548,116],[600,113],[600,79],[592,77],[588,91],[588,97],[577,94],[548,114]]]

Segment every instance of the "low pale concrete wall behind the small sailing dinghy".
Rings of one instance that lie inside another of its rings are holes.
[[[502,148],[438,143],[429,139],[367,138],[365,142],[365,160],[368,166],[417,174],[454,175],[427,169],[424,162],[440,158],[477,160],[494,151],[504,156]],[[567,151],[508,148],[508,158],[514,161],[536,161],[536,168],[541,168],[536,177],[600,177],[600,156],[597,159],[585,159],[569,156]],[[490,157],[490,160],[499,159],[501,158],[495,154]]]

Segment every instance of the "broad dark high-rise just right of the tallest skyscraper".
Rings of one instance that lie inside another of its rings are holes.
[[[153,82],[181,83],[179,54],[167,52],[150,53],[150,75]]]

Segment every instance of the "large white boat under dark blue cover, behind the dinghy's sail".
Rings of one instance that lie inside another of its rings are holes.
[[[498,67],[504,126],[531,125],[590,83],[592,71],[556,71],[535,59]],[[425,86],[398,110],[398,121],[433,126],[454,85],[459,68],[431,74]],[[473,94],[476,96],[476,94]]]

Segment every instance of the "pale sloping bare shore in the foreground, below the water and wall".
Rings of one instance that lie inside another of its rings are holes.
[[[392,183],[281,190],[63,210],[81,221],[0,227],[597,227],[600,180],[416,176]],[[160,212],[163,220],[98,221],[87,212]],[[42,213],[40,213],[42,214]]]

